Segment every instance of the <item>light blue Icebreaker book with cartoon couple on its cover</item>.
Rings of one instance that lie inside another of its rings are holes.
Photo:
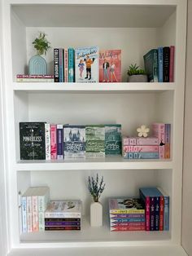
[[[98,46],[75,50],[76,82],[98,82]]]

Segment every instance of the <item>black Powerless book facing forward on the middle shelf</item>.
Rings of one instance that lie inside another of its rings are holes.
[[[20,122],[20,159],[46,159],[45,122]]]

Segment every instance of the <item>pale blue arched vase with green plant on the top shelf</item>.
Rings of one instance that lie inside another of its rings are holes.
[[[46,34],[41,33],[33,42],[34,48],[37,50],[37,55],[34,55],[28,62],[29,75],[46,75],[47,64],[46,60],[41,55],[46,55],[46,51],[50,48],[50,42],[46,40]]]

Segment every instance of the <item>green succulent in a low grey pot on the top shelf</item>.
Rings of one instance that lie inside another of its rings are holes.
[[[145,70],[139,68],[137,64],[129,66],[128,76],[128,82],[147,82]]]

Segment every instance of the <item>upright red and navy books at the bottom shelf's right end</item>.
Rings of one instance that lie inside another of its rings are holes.
[[[169,230],[169,196],[161,188],[140,188],[146,207],[146,231]]]

